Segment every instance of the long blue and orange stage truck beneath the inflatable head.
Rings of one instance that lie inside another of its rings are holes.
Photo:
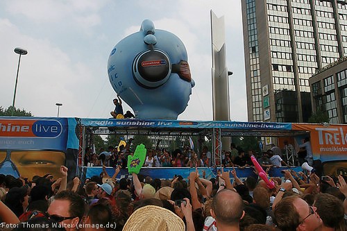
[[[178,121],[178,120],[137,120],[137,119],[84,119],[56,117],[0,117],[0,173],[31,179],[46,173],[59,177],[59,168],[69,168],[69,179],[80,176],[90,178],[101,173],[101,166],[84,166],[85,148],[92,146],[94,135],[119,135],[127,139],[133,135],[205,137],[212,140],[212,162],[214,167],[198,168],[206,178],[214,178],[221,164],[221,137],[258,137],[261,151],[276,144],[285,150],[289,165],[296,171],[298,146],[306,137],[310,138],[314,154],[314,166],[324,175],[347,175],[347,125],[315,123],[262,123],[242,121]],[[286,141],[286,142],[285,142]],[[286,144],[286,145],[285,145]],[[117,146],[118,144],[114,144]],[[290,150],[288,146],[291,146]],[[150,147],[152,148],[152,147]],[[201,146],[194,144],[199,154]],[[280,171],[287,168],[272,168],[269,176],[282,176]],[[226,169],[230,170],[230,169]],[[253,169],[235,169],[237,176],[252,176]],[[112,176],[114,169],[107,168]],[[190,168],[146,168],[140,174],[152,178],[170,179],[174,175],[186,178]],[[127,178],[122,169],[117,178]]]

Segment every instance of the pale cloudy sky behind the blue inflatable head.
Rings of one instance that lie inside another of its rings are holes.
[[[210,10],[225,17],[231,119],[246,121],[241,1],[0,1],[0,106],[12,105],[18,55],[22,56],[16,107],[37,117],[108,118],[115,98],[108,55],[144,19],[170,31],[186,46],[192,78],[187,109],[178,119],[212,120]],[[124,110],[130,110],[124,105]]]

